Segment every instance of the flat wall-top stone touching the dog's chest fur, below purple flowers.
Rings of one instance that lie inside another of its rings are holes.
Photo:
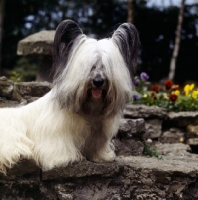
[[[125,118],[160,118],[166,119],[168,113],[158,106],[132,105],[129,104],[124,109]]]

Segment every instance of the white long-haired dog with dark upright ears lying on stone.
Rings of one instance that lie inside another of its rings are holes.
[[[18,108],[0,109],[0,171],[21,158],[44,170],[82,158],[109,162],[111,139],[132,91],[139,36],[130,23],[96,40],[65,20],[54,38],[52,90]]]

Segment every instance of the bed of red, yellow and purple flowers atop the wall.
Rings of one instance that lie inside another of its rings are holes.
[[[166,80],[163,87],[148,82],[149,76],[142,72],[133,83],[133,104],[159,106],[167,111],[198,111],[198,89],[194,84],[186,84],[183,89],[172,80]]]

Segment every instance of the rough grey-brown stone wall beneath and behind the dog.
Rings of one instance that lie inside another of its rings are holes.
[[[0,107],[25,105],[51,87],[49,83],[14,83],[1,77]],[[42,171],[33,160],[21,160],[8,169],[7,176],[0,174],[0,199],[198,199],[198,155],[191,153],[185,142],[160,142],[164,127],[166,131],[172,124],[173,129],[177,128],[178,122],[169,122],[172,115],[158,107],[131,105],[126,107],[124,115],[119,133],[113,139],[117,155],[114,162],[83,160]],[[197,115],[190,119],[195,125]],[[179,128],[184,123],[181,125]],[[142,154],[142,141],[148,139],[163,155],[162,160]]]

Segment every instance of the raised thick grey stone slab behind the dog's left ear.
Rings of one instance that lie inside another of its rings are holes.
[[[17,55],[53,55],[55,30],[44,30],[18,42]]]

